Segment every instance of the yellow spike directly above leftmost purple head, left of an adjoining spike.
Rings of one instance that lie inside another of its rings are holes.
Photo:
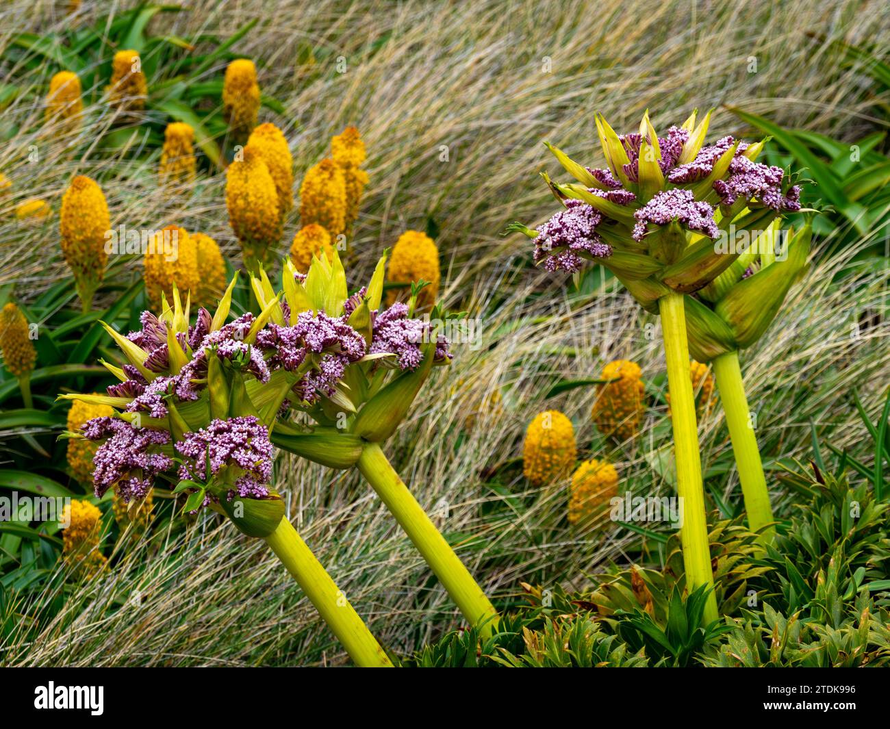
[[[150,244],[142,258],[142,280],[153,309],[163,310],[163,298],[171,297],[174,287],[183,293],[200,290],[198,249],[184,228],[167,225]]]

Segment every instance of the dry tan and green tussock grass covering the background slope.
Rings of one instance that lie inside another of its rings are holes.
[[[51,4],[28,12],[26,6],[35,4],[16,0],[0,11],[0,47],[13,30],[44,32],[62,22]],[[85,3],[83,12],[104,7]],[[190,37],[198,31],[225,36],[259,19],[238,51],[259,62],[263,90],[285,104],[284,117],[263,109],[261,121],[285,130],[297,181],[325,154],[331,134],[347,124],[360,127],[371,183],[356,231],[352,281],[366,279],[382,249],[406,228],[423,229],[428,217],[441,228],[444,303],[478,316],[481,338],[472,347],[455,346],[454,363],[434,374],[387,452],[428,510],[448,506],[448,516],[437,517],[442,530],[503,607],[516,599],[520,580],[583,590],[610,560],[640,558],[639,540],[627,530],[570,530],[566,484],[536,490],[524,482],[511,461],[521,454],[525,427],[538,411],[562,409],[575,425],[579,456],[613,458],[622,490],[626,484],[645,494],[671,490],[668,477],[659,475],[669,468],[658,467],[667,433],[658,320],[611,284],[595,295],[572,293],[561,280],[530,270],[528,241],[499,236],[511,220],[535,223],[552,212],[535,173],[554,170],[555,163],[539,142],[549,138],[598,164],[592,157],[595,111],[623,129],[646,108],[666,126],[682,121],[692,106],[720,104],[854,139],[860,126],[875,121],[870,102],[862,100],[854,71],[838,68],[826,47],[805,34],[851,41],[886,36],[890,20],[869,7],[608,2],[589,12],[557,2],[200,0],[190,12],[161,21],[167,32]],[[307,44],[315,49],[315,63],[296,64]],[[338,56],[346,60],[345,74],[336,73]],[[756,73],[748,73],[752,56]],[[162,196],[154,160],[105,154],[95,142],[97,130],[112,122],[99,89],[86,105],[84,132],[75,140],[53,136],[43,129],[39,96],[54,70],[33,78],[36,97],[20,96],[4,111],[12,137],[0,146],[0,171],[15,187],[0,198],[0,284],[14,283],[17,296],[27,299],[67,275],[57,218],[35,226],[9,215],[30,197],[47,198],[58,213],[73,174],[101,182],[113,225],[160,228],[175,221],[213,236],[237,261],[223,174],[204,174],[179,198]],[[222,69],[213,72],[219,76]],[[734,117],[716,117],[715,136],[736,131]],[[36,163],[27,161],[31,144],[39,152]],[[441,145],[448,146],[447,162],[440,160]],[[282,251],[296,225],[292,217]],[[854,253],[814,265],[769,336],[743,354],[767,468],[780,458],[808,458],[810,419],[837,448],[868,458],[857,450],[861,425],[849,397],[857,388],[867,407],[877,407],[890,332],[885,319],[854,337],[851,324],[870,319],[870,312],[886,314],[888,273],[854,263]],[[121,260],[109,279],[125,282],[140,272],[138,262]],[[617,358],[640,362],[652,407],[633,443],[606,451],[590,421],[593,390],[545,394],[555,380],[595,377],[605,361]],[[468,429],[466,414],[495,390],[502,407],[479,413]],[[719,408],[700,430],[706,463],[731,464]],[[448,596],[355,474],[287,455],[277,469],[303,538],[389,650],[405,655],[459,624]],[[724,501],[740,500],[732,468],[717,468],[709,481]],[[780,493],[772,478],[770,486]],[[658,559],[657,545],[646,548],[646,558]],[[264,545],[213,514],[185,536],[155,533],[112,563],[98,579],[66,587],[64,607],[52,620],[43,610],[59,596],[52,590],[18,603],[16,611],[30,620],[0,646],[0,662],[346,662]]]

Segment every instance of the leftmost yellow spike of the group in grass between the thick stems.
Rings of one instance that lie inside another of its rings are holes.
[[[559,410],[546,410],[531,421],[522,445],[522,473],[533,485],[559,481],[577,456],[575,430]]]

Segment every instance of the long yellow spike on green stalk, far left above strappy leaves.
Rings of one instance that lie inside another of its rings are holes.
[[[77,175],[61,198],[59,230],[61,250],[77,283],[84,312],[90,311],[93,295],[105,277],[105,234],[111,228],[109,207],[98,184]]]

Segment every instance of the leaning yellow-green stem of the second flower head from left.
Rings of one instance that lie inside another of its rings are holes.
[[[430,569],[448,590],[466,620],[471,625],[479,626],[483,636],[490,636],[495,628],[498,611],[430,521],[417,499],[411,495],[399,474],[393,470],[380,446],[368,443],[362,450],[357,465],[377,496],[414,542]]]

